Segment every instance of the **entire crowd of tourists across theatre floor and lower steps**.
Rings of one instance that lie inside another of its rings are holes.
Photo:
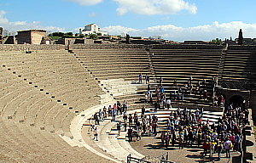
[[[142,82],[143,76],[139,76],[139,82]],[[178,94],[187,93],[190,87],[192,87],[192,76],[189,77],[188,89],[177,88],[177,96],[171,95],[166,99],[165,89],[162,85],[163,79],[160,78],[159,88],[155,89],[156,102],[154,103],[154,111],[161,109],[171,109],[171,99],[177,98]],[[149,76],[145,76],[145,82],[149,83]],[[212,79],[212,82],[214,80]],[[177,86],[174,82],[173,86]],[[207,87],[206,81],[203,80],[199,87]],[[195,89],[196,90],[196,89]],[[192,89],[189,90],[191,92]],[[205,91],[204,91],[205,92]],[[196,92],[195,92],[196,93]],[[172,94],[172,93],[171,93]],[[207,97],[205,97],[207,98]],[[152,93],[150,92],[150,86],[148,84],[148,91],[145,94],[145,99],[148,103],[153,104]],[[181,101],[183,98],[180,98]],[[218,95],[213,98],[213,105],[223,106],[224,97]],[[214,154],[218,155],[218,160],[221,158],[221,154],[225,153],[225,156],[230,158],[230,149],[233,151],[241,151],[241,130],[248,123],[248,110],[246,110],[242,104],[230,106],[224,110],[224,115],[218,118],[218,121],[211,122],[202,121],[204,115],[204,108],[201,107],[197,110],[190,110],[187,108],[170,111],[170,115],[167,118],[166,127],[158,127],[157,115],[145,115],[145,108],[141,110],[141,114],[135,111],[133,114],[127,114],[127,102],[122,104],[118,101],[113,106],[109,105],[108,108],[104,106],[102,110],[99,110],[93,115],[95,125],[100,125],[100,121],[104,121],[105,118],[111,117],[111,120],[115,120],[116,115],[122,115],[123,122],[117,123],[118,136],[120,135],[121,126],[124,126],[124,131],[127,132],[129,141],[141,140],[143,136],[159,136],[161,143],[164,147],[178,146],[179,149],[197,147],[202,148],[202,155],[209,155],[212,157]],[[94,139],[97,140],[97,127],[91,123],[91,129],[95,131]],[[159,131],[159,135],[158,134]]]

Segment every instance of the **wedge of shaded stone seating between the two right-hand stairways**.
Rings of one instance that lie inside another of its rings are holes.
[[[152,57],[152,66],[155,73],[155,82],[150,85],[154,92],[154,87],[158,87],[160,77],[164,79],[163,87],[166,95],[177,91],[181,87],[184,92],[184,84],[188,82],[189,76],[193,76],[192,84],[198,87],[202,80],[207,81],[208,101],[201,100],[199,94],[195,92],[185,94],[184,103],[202,104],[209,106],[212,104],[212,76],[217,76],[219,62],[222,55],[221,49],[151,49],[154,53]],[[177,81],[177,87],[173,87],[174,80]]]

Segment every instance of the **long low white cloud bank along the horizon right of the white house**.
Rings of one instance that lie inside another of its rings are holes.
[[[183,28],[175,25],[156,25],[146,29],[134,29],[125,26],[108,26],[102,28],[102,31],[108,31],[111,35],[119,35],[121,33],[129,33],[131,36],[152,37],[161,36],[164,39],[183,42],[184,40],[204,40],[210,41],[216,37],[235,39],[238,31],[242,29],[243,37],[256,36],[256,23],[246,24],[241,21],[232,21],[230,23],[219,24],[218,21],[212,25],[197,25],[193,27]]]

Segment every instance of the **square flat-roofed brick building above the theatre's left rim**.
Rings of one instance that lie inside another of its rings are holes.
[[[49,39],[46,39],[46,31],[44,30],[26,30],[17,31],[17,42],[18,44],[49,44]]]

